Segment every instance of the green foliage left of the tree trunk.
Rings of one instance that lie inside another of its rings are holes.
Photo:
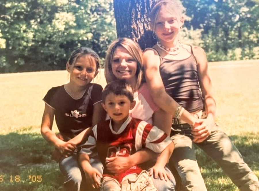
[[[64,69],[80,46],[104,58],[116,38],[111,0],[9,0],[0,7],[0,72]]]

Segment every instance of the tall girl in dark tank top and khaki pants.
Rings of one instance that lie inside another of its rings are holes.
[[[215,124],[216,102],[208,74],[206,54],[200,47],[184,45],[179,34],[184,24],[179,0],[158,0],[151,10],[151,29],[157,44],[144,51],[147,84],[154,102],[173,115],[173,164],[183,190],[207,190],[197,165],[194,144],[211,156],[240,190],[258,190],[251,171],[228,136]],[[196,120],[181,118],[188,111]],[[205,112],[204,112],[205,111]]]

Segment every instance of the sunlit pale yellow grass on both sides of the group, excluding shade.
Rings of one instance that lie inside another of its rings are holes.
[[[229,134],[258,132],[259,61],[214,62],[209,64],[209,72],[217,102],[217,122],[224,124]],[[65,70],[0,74],[0,132],[40,127],[42,98],[48,89],[67,81]],[[103,70],[94,82],[106,85]]]

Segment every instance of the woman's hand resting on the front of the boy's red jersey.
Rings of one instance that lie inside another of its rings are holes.
[[[114,174],[122,173],[132,166],[129,158],[123,156],[107,157],[105,163],[108,171]]]

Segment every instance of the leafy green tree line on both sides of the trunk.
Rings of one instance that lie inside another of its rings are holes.
[[[259,58],[258,0],[182,2],[188,16],[184,43],[203,47],[209,61]],[[104,59],[116,38],[112,0],[0,2],[1,73],[64,69],[71,51],[80,46]]]

